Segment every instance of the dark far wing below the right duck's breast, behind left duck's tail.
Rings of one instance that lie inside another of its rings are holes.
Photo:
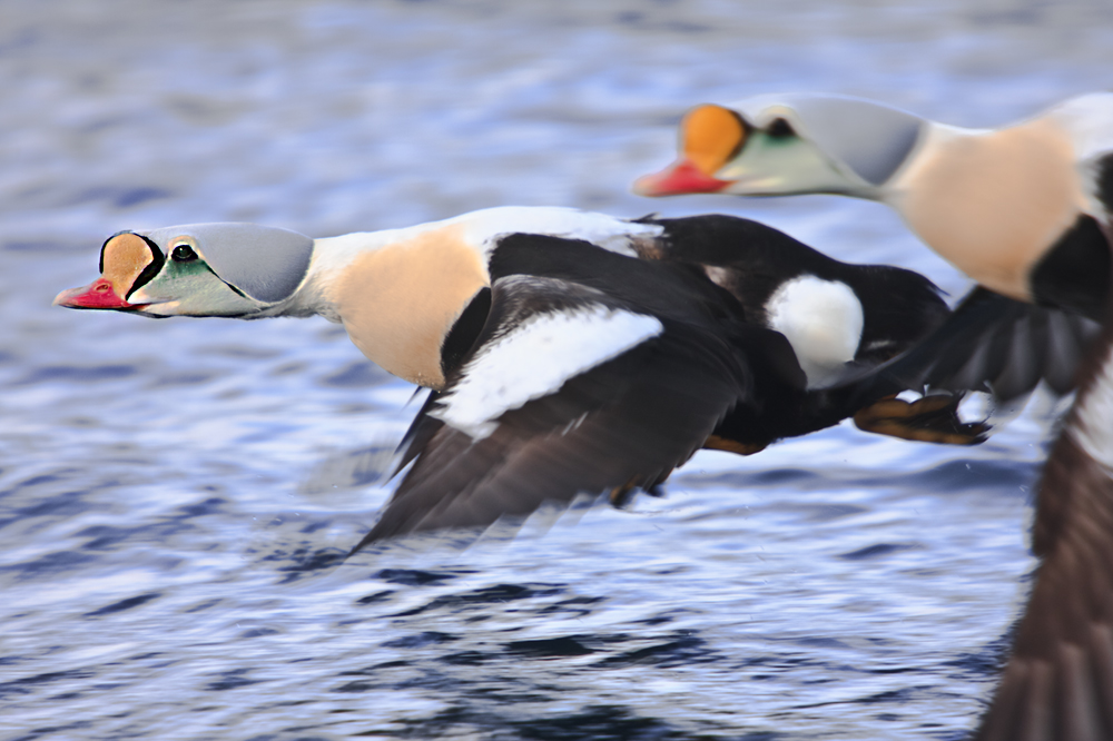
[[[1006,298],[981,286],[923,342],[869,370],[874,382],[847,379],[864,395],[878,387],[992,392],[999,402],[1043,381],[1057,394],[1074,388],[1086,347],[1101,325],[1060,309]]]

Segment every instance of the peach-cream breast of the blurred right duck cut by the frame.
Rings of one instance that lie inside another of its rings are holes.
[[[992,132],[933,127],[894,189],[893,205],[933,249],[1021,300],[1032,299],[1032,268],[1085,205],[1071,141],[1046,119]]]

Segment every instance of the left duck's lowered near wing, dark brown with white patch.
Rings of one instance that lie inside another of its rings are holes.
[[[444,424],[414,438],[413,467],[353,552],[580,493],[652,486],[746,403],[749,378],[713,327],[567,280],[501,278],[479,339],[423,411]]]

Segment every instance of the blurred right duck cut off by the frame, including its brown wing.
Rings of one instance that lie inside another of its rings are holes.
[[[932,355],[977,375],[985,365],[953,348],[981,348],[983,357],[1008,357],[998,362],[1006,376],[1043,373],[1062,384],[1081,362],[1075,404],[1036,497],[1041,565],[975,738],[1113,738],[1113,93],[997,130],[836,96],[764,97],[700,106],[680,138],[677,164],[639,180],[639,192],[879,200],[981,284],[947,325],[895,363],[915,366],[912,356]],[[1084,356],[1094,325],[1080,316],[1104,323]],[[1026,334],[1033,326],[1042,330]],[[1011,335],[1023,342],[1007,345]],[[1042,347],[1048,365],[1024,345]],[[1056,357],[1066,359],[1056,366]]]

